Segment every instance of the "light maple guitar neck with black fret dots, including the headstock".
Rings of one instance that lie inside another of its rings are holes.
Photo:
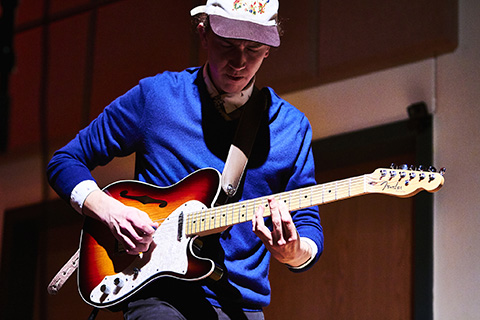
[[[435,170],[425,172],[422,170],[379,168],[371,174],[282,192],[274,196],[278,201],[283,201],[289,211],[369,193],[405,198],[422,190],[438,191],[443,186],[444,173],[444,168],[439,173]],[[261,197],[191,212],[185,217],[185,232],[187,235],[206,235],[220,232],[226,227],[251,221],[259,206],[265,208],[265,217],[270,216],[268,198]]]

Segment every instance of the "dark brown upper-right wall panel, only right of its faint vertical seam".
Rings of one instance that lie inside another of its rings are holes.
[[[453,51],[457,0],[321,1],[322,83]]]

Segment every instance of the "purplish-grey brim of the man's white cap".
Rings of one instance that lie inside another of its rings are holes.
[[[264,26],[218,15],[209,15],[209,19],[213,32],[220,37],[250,40],[272,47],[280,46],[280,35],[276,25]]]

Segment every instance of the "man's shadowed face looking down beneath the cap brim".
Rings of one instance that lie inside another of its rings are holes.
[[[270,47],[253,41],[222,38],[199,26],[207,49],[210,77],[220,93],[237,93],[250,82],[268,57]]]

